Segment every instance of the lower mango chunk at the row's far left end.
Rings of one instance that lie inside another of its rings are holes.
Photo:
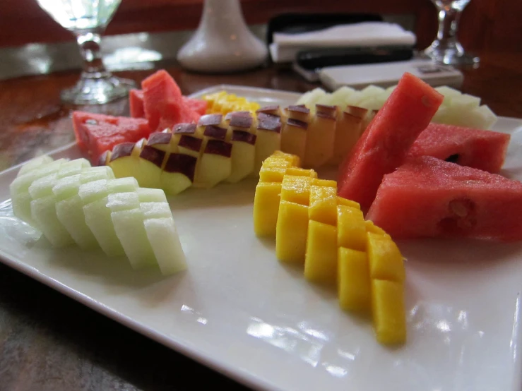
[[[274,236],[278,222],[281,184],[259,182],[254,195],[254,232],[257,236]]]

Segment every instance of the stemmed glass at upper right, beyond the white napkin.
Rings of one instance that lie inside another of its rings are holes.
[[[432,0],[439,11],[437,38],[425,50],[434,61],[448,65],[474,65],[479,58],[464,52],[457,40],[458,20],[470,0]]]

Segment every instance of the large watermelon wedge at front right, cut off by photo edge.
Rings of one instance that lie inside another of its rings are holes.
[[[367,219],[393,239],[522,239],[522,183],[422,156],[384,176]]]

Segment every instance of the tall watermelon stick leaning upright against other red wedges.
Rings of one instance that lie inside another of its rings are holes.
[[[338,195],[367,209],[384,174],[403,163],[415,138],[428,126],[443,99],[425,82],[404,73],[341,164]]]

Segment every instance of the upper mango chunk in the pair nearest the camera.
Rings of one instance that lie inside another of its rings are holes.
[[[372,279],[403,282],[405,279],[403,255],[388,235],[368,232],[369,272]]]

